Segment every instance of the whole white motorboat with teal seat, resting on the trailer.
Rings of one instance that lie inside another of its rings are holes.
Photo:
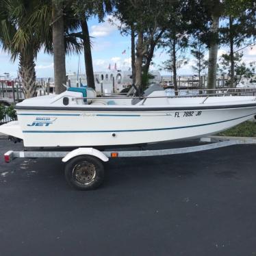
[[[1,125],[0,132],[27,147],[131,145],[229,129],[256,115],[256,97],[168,97],[157,90],[142,98],[97,98],[92,91],[86,97],[84,88],[69,88],[26,99],[16,112],[18,121]]]

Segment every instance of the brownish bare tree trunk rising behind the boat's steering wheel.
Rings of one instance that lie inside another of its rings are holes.
[[[143,59],[143,32],[138,32],[138,42],[136,46],[136,61],[135,72],[136,81],[135,86],[142,92],[142,59]]]

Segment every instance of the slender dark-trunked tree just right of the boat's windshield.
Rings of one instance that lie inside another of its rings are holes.
[[[180,0],[168,5],[163,20],[166,32],[162,37],[162,47],[168,49],[170,61],[166,66],[173,72],[175,90],[177,91],[177,68],[186,64],[184,52],[188,48],[190,37],[207,40],[209,13],[205,0]],[[175,65],[176,63],[176,65]]]

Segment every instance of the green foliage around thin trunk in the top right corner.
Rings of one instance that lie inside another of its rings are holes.
[[[251,77],[251,75],[248,75],[251,70],[244,63],[238,67],[238,62],[242,58],[242,54],[238,52],[252,44],[256,37],[256,5],[255,1],[252,0],[225,0],[222,5],[222,19],[224,22],[222,22],[219,29],[220,43],[229,46],[229,53],[222,56],[222,62],[226,62],[226,68],[229,66],[227,73],[230,81],[228,84],[233,88],[235,84],[238,84],[240,77],[238,73],[245,77]],[[245,47],[242,47],[244,44],[246,44]],[[227,62],[229,63],[227,64]],[[235,77],[235,73],[237,73],[237,77]]]

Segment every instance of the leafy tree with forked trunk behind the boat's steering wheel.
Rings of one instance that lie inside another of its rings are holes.
[[[165,16],[168,5],[172,1],[167,0],[123,0],[115,1],[116,8],[115,16],[122,24],[127,27],[133,25],[134,31],[137,34],[136,42],[136,58],[135,85],[142,90],[142,64],[150,49],[150,44],[155,40],[155,35],[159,33],[159,29],[163,26],[163,17]],[[158,39],[157,39],[158,40]],[[149,66],[153,57],[155,46],[151,48],[151,53],[148,54],[147,66]],[[145,68],[146,71],[147,68]]]

